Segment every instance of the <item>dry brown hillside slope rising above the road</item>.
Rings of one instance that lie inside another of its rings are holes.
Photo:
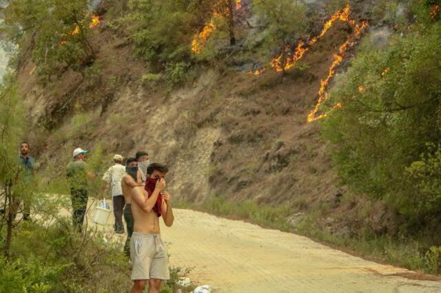
[[[369,20],[367,1],[352,2],[351,17]],[[318,35],[330,15],[324,3],[310,5],[318,10],[311,34]],[[260,75],[246,74],[252,58],[232,54],[198,69],[192,83],[170,89],[143,82],[149,66],[134,57],[127,36],[109,25],[105,2],[99,13],[101,23],[90,36],[94,66],[81,73],[68,69],[49,83],[35,74],[30,54],[19,68],[19,90],[33,129],[28,139],[42,170],[63,170],[77,146],[92,153],[101,147],[106,158],[146,150],[152,161],[170,166],[168,186],[182,201],[251,199],[285,206],[291,215],[325,207],[331,217],[322,224],[332,231],[349,234],[367,222],[384,229],[391,215],[381,206],[372,217],[362,217],[362,199],[340,203],[345,191],[331,170],[320,121],[307,122],[320,80],[353,33],[350,23],[333,23],[299,61],[301,67],[284,76],[270,67]],[[379,39],[383,33],[368,32]],[[252,30],[249,34],[254,37]],[[356,47],[358,39],[353,42]],[[337,72],[354,52],[345,54]],[[354,220],[358,215],[362,220]]]

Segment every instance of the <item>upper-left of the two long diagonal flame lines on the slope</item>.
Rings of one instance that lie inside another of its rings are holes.
[[[327,33],[327,31],[332,28],[332,25],[334,25],[334,23],[336,21],[349,21],[350,25],[356,25],[356,22],[349,19],[349,14],[350,14],[350,9],[351,6],[349,6],[349,3],[345,6],[345,8],[343,8],[342,10],[338,10],[336,13],[334,13],[331,16],[331,19],[329,19],[329,21],[327,21],[322,28],[322,31],[320,32],[320,34],[318,36],[316,36],[315,38],[311,39],[311,41],[309,41],[309,43],[305,44],[304,42],[300,41],[296,47],[296,49],[294,50],[294,54],[292,56],[288,56],[285,59],[285,65],[283,65],[282,67],[282,58],[283,55],[285,55],[285,53],[287,52],[287,48],[285,48],[285,52],[279,54],[278,56],[274,57],[271,59],[271,62],[269,63],[271,65],[271,67],[274,67],[274,69],[276,69],[276,72],[283,72],[284,70],[290,69],[292,67],[294,67],[297,63],[297,61],[299,61],[303,55],[309,51],[309,49],[311,48],[312,45],[314,45],[314,43],[316,43],[318,41],[318,39],[320,39],[322,36],[325,36],[325,34]]]

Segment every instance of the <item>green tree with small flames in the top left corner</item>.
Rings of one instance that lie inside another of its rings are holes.
[[[87,0],[12,0],[3,15],[1,35],[24,58],[32,52],[40,74],[79,70],[94,61],[88,37],[97,19],[88,14]]]

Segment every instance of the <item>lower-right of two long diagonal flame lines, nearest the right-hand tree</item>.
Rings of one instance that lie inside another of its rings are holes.
[[[363,21],[360,25],[356,25],[356,28],[354,30],[353,39],[357,39],[358,36],[368,27],[367,22]],[[318,102],[316,104],[316,107],[314,110],[309,113],[307,121],[313,122],[322,118],[325,118],[327,116],[327,113],[321,113],[320,115],[317,115],[318,110],[320,109],[320,106],[322,103],[327,99],[328,94],[326,92],[327,85],[329,84],[329,80],[336,74],[336,67],[343,61],[343,58],[346,55],[347,50],[351,49],[353,45],[355,45],[356,41],[350,41],[350,38],[345,41],[340,47],[338,48],[338,54],[334,54],[334,61],[332,62],[331,67],[329,67],[329,73],[327,78],[325,80],[320,81],[320,89],[318,90]],[[360,91],[360,87],[358,88]]]

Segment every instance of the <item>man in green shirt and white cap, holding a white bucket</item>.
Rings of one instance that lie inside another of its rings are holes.
[[[88,171],[88,164],[85,162],[85,153],[87,152],[81,148],[75,149],[73,153],[74,160],[66,167],[72,199],[72,220],[80,232],[82,231],[85,211],[88,207],[88,180],[96,179]]]

